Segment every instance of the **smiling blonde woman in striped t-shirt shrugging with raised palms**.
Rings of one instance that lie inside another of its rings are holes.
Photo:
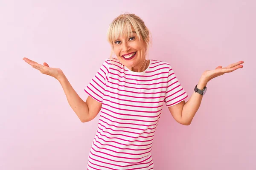
[[[164,102],[177,122],[190,125],[207,82],[243,67],[240,61],[204,71],[185,102],[188,95],[170,64],[146,59],[150,33],[140,17],[122,14],[115,18],[108,29],[108,41],[117,58],[103,62],[84,89],[89,94],[86,102],[61,69],[23,58],[41,73],[58,79],[81,122],[92,120],[101,111],[87,170],[153,170],[152,141]]]

